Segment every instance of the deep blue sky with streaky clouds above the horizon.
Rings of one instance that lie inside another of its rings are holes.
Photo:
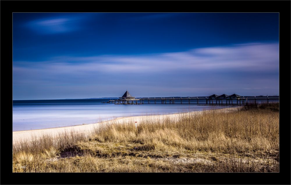
[[[13,100],[279,95],[279,13],[13,13]]]

